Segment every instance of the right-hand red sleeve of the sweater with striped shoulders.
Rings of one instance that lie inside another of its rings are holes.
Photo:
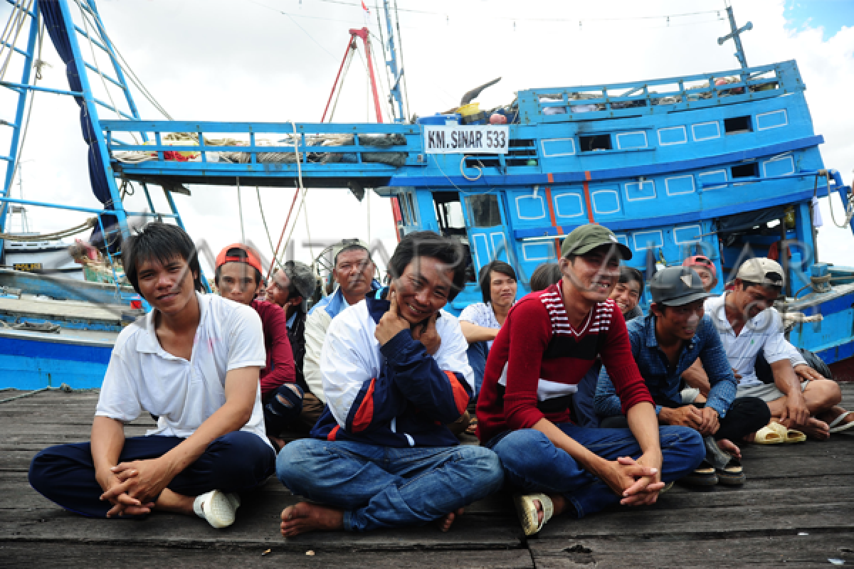
[[[635,363],[635,357],[632,355],[632,345],[629,340],[629,330],[626,329],[626,321],[622,317],[614,317],[613,315],[620,313],[619,309],[613,301],[607,302],[611,304],[611,327],[608,329],[608,335],[605,338],[600,356],[608,375],[611,376],[617,395],[620,397],[623,415],[625,415],[636,404],[644,401],[654,403],[649,390],[646,389],[646,383],[640,375],[638,365]]]

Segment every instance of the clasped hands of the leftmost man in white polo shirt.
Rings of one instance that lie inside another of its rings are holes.
[[[113,504],[107,517],[150,514],[157,496],[172,479],[162,458],[120,462],[111,467],[98,476],[104,489],[101,499]]]

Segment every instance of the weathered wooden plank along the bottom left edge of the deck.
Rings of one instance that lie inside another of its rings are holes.
[[[270,553],[262,555],[267,549]],[[303,548],[305,549],[305,548]],[[312,551],[313,555],[307,555]],[[163,566],[175,569],[190,567],[356,567],[364,569],[398,569],[399,567],[493,567],[494,569],[533,568],[527,549],[488,549],[475,551],[389,551],[363,552],[326,549],[287,551],[273,545],[270,548],[247,547],[225,549],[182,549],[112,544],[77,545],[67,543],[0,543],[3,566]],[[166,562],[165,560],[168,560]]]

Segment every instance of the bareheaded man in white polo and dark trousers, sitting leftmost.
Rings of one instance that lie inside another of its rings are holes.
[[[259,370],[264,336],[251,307],[201,294],[190,236],[152,223],[126,241],[128,280],[153,307],[122,330],[110,357],[90,443],[38,453],[30,484],[89,517],[155,511],[234,522],[239,492],[273,473],[264,433]],[[144,437],[124,424],[159,417]]]

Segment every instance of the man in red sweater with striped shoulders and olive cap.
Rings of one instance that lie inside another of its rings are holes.
[[[519,300],[495,338],[477,402],[477,434],[500,457],[526,535],[553,514],[581,518],[610,506],[650,504],[665,482],[693,471],[703,439],[687,427],[659,427],[632,358],[619,308],[608,296],[620,259],[632,256],[609,229],[567,235],[562,279]],[[629,429],[579,427],[577,384],[600,356]]]

